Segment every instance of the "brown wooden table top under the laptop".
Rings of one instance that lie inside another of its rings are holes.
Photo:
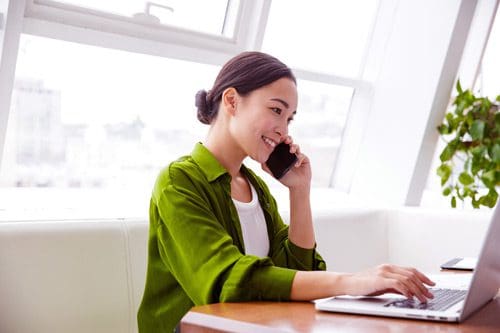
[[[500,332],[497,297],[460,324],[316,311],[309,302],[217,303],[193,308],[181,332]]]

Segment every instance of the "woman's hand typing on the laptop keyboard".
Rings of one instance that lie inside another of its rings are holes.
[[[397,293],[420,302],[434,296],[425,285],[435,283],[415,268],[383,264],[367,271],[344,276],[345,293],[351,296],[377,296]]]

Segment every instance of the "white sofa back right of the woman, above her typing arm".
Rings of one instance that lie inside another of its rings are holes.
[[[330,271],[392,263],[435,273],[455,257],[477,257],[492,210],[421,208],[316,210],[317,249]]]

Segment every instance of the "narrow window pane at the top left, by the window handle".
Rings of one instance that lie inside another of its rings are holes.
[[[51,2],[134,17],[146,23],[173,25],[226,37],[233,36],[234,20],[229,16],[236,15],[239,5],[238,0],[56,0]]]

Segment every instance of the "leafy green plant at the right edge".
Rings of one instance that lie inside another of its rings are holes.
[[[500,95],[495,101],[475,96],[460,81],[456,90],[451,110],[438,126],[446,142],[437,169],[443,195],[451,196],[453,208],[457,198],[470,198],[474,208],[494,207],[500,185]]]

